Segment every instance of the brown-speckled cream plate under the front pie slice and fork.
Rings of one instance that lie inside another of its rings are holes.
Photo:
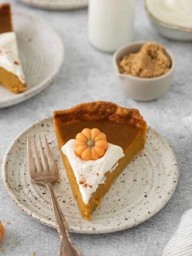
[[[92,221],[78,212],[63,168],[52,118],[22,132],[11,144],[3,161],[3,179],[14,202],[29,216],[55,228],[50,198],[45,187],[30,181],[27,170],[26,134],[47,134],[59,169],[54,191],[66,216],[69,230],[77,233],[108,233],[130,228],[162,209],[178,180],[178,164],[167,142],[149,128],[143,153],[129,164],[93,212]]]

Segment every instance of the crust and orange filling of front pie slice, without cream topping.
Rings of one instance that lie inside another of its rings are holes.
[[[84,204],[79,185],[68,158],[61,151],[61,156],[68,179],[82,216],[91,220],[91,213],[100,205],[102,197],[110,189],[127,164],[144,148],[146,142],[147,123],[137,109],[119,107],[115,103],[96,101],[82,103],[76,107],[54,111],[53,122],[59,149],[84,128],[97,128],[106,134],[107,141],[123,149],[124,157],[119,159],[113,172],[105,174],[105,183],[98,186],[88,204]]]

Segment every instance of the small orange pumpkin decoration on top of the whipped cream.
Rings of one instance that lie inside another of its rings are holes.
[[[75,153],[83,160],[96,160],[105,154],[107,148],[106,135],[97,128],[85,128],[76,135]]]

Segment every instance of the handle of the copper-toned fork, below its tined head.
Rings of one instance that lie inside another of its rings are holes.
[[[77,247],[71,242],[70,235],[67,229],[67,222],[62,214],[61,208],[57,201],[57,197],[54,194],[53,186],[51,183],[46,184],[46,188],[49,191],[51,203],[53,207],[54,219],[57,224],[57,230],[61,238],[60,256],[80,256],[81,253]]]

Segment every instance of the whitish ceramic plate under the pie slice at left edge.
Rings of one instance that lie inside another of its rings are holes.
[[[63,60],[60,36],[44,21],[13,9],[13,25],[28,89],[14,94],[0,85],[0,108],[27,100],[45,89],[58,73]]]

